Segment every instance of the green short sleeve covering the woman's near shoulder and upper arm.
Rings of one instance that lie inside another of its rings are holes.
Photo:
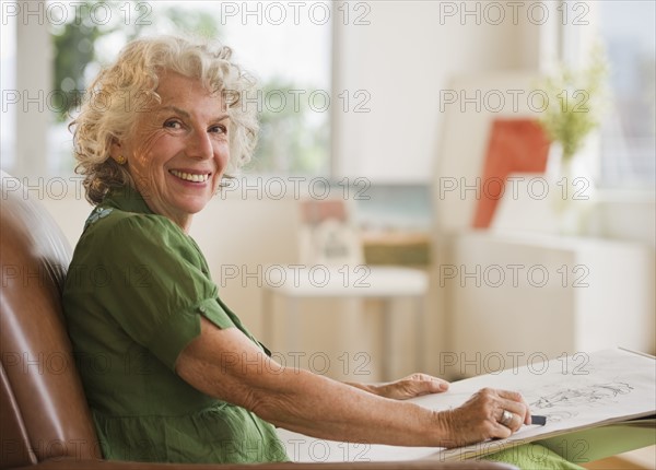
[[[174,369],[200,334],[201,315],[220,328],[235,327],[202,254],[173,222],[119,213],[94,225],[85,234],[86,263],[75,267],[87,270],[81,282],[91,280],[87,289],[116,326],[167,367]]]

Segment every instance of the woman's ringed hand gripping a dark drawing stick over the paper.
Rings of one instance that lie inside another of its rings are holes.
[[[513,413],[505,425],[500,423],[503,411]],[[530,424],[530,411],[516,391],[483,388],[459,408],[437,413],[449,436],[444,447],[460,447],[490,438],[506,438]]]

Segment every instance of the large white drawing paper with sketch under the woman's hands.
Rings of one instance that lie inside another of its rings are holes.
[[[293,461],[442,461],[490,454],[512,442],[528,443],[566,431],[656,413],[656,361],[621,349],[563,355],[549,362],[536,360],[525,367],[456,381],[447,392],[411,401],[434,410],[447,410],[459,407],[484,387],[522,392],[532,414],[547,416],[547,425],[524,426],[508,439],[457,449],[338,443],[281,428],[278,432]]]

